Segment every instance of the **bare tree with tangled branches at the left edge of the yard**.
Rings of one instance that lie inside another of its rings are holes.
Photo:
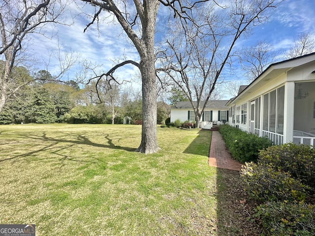
[[[10,0],[0,3],[0,56],[4,60],[0,74],[0,112],[6,98],[30,83],[17,85],[11,72],[17,59],[23,58],[23,47],[33,32],[45,34],[49,23],[58,22],[63,16],[63,0]]]

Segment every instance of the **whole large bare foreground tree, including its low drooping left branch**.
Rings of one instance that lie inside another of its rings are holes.
[[[155,26],[158,15],[158,7],[161,4],[168,6],[174,15],[190,20],[191,9],[207,0],[200,0],[189,4],[184,0],[81,0],[89,2],[95,6],[95,15],[89,27],[100,19],[100,15],[105,10],[115,16],[115,19],[126,32],[128,38],[137,49],[140,62],[125,61],[107,73],[98,76],[113,81],[113,72],[120,66],[132,63],[137,66],[142,78],[142,138],[137,151],[143,153],[153,153],[158,151],[157,140],[157,83],[155,68]],[[96,83],[98,84],[98,83]]]

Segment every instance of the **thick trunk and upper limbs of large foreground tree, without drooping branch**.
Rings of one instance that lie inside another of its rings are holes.
[[[140,19],[141,22],[139,28],[142,30],[141,38],[139,38],[138,30],[135,32],[132,29],[132,22],[130,23],[126,19],[129,18],[129,14],[120,11],[113,0],[82,1],[90,2],[105,10],[113,12],[139,53],[140,63],[139,65],[137,64],[137,66],[139,66],[142,77],[142,140],[139,148],[136,150],[143,153],[157,152],[159,148],[157,138],[157,84],[154,35],[160,1],[133,1],[137,11],[135,22],[137,22],[137,17],[139,17],[138,19]],[[99,12],[95,14],[94,20],[96,19],[96,16],[98,17]]]

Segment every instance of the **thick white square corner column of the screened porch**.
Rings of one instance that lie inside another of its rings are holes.
[[[294,81],[284,86],[284,143],[293,142],[294,128]]]

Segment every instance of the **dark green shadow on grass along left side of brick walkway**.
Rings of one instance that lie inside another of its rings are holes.
[[[187,131],[189,132],[189,130]],[[184,153],[209,156],[212,132],[210,130],[200,130],[198,136],[184,150]]]

